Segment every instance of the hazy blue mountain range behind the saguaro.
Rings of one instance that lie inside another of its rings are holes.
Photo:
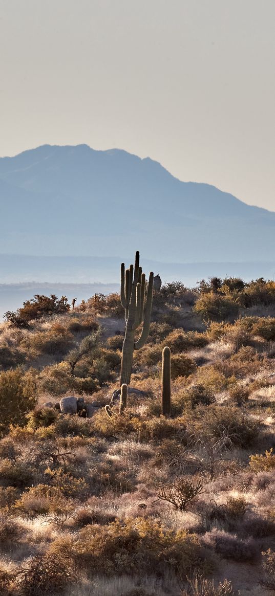
[[[3,157],[0,204],[0,253],[274,259],[275,213],[122,150],[43,145]]]

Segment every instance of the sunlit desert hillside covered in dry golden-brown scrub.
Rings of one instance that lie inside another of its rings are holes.
[[[137,279],[0,326],[3,595],[275,593],[275,283]]]

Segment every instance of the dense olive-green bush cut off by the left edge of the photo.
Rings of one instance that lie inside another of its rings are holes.
[[[32,374],[24,374],[21,368],[0,372],[0,434],[9,424],[23,424],[26,415],[35,407],[36,383]]]

